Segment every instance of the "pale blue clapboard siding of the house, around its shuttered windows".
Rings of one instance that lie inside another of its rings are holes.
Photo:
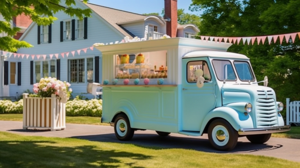
[[[77,4],[76,7],[81,8],[87,8],[84,6],[84,4]],[[116,30],[107,23],[103,22],[99,16],[96,13],[91,14],[92,17],[88,18],[88,37],[87,39],[82,40],[71,40],[71,41],[64,41],[60,42],[60,21],[64,21],[66,19],[76,19],[71,18],[70,16],[66,15],[63,12],[58,12],[54,16],[58,18],[58,20],[54,21],[52,24],[52,43],[45,43],[45,44],[38,44],[38,26],[35,25],[32,27],[32,29],[28,32],[26,37],[24,37],[24,41],[27,41],[28,43],[32,44],[34,47],[29,49],[19,49],[18,53],[24,53],[24,54],[30,54],[30,55],[44,55],[47,54],[46,59],[49,58],[49,54],[56,54],[58,53],[58,59],[61,60],[60,62],[60,80],[61,81],[68,81],[68,59],[76,59],[76,58],[85,58],[85,57],[94,57],[100,56],[100,76],[99,79],[102,81],[101,77],[101,66],[102,66],[102,54],[99,50],[94,49],[91,51],[90,49],[87,50],[86,53],[83,51],[80,52],[80,55],[78,55],[77,51],[78,49],[91,47],[94,43],[110,43],[115,41],[120,41],[124,37],[121,36],[119,33],[116,32]],[[75,55],[73,57],[71,51],[76,51]],[[61,57],[62,52],[70,52],[68,57],[64,55],[64,58]],[[52,59],[56,59],[55,56],[52,57]],[[16,96],[16,92],[23,93],[24,90],[32,90],[33,85],[30,84],[30,61],[32,60],[31,56],[29,56],[28,59],[24,57],[23,59],[19,59],[19,61],[22,62],[22,85],[16,86],[17,89],[13,89],[10,91],[10,96]],[[43,61],[43,57],[41,56],[38,60],[37,57],[35,57],[34,61]],[[94,60],[95,64],[95,60]],[[57,72],[57,70],[56,70]],[[95,72],[94,72],[95,75]],[[95,79],[95,77],[94,77]],[[86,80],[86,77],[85,77]],[[35,82],[34,82],[35,83]],[[71,88],[73,90],[72,95],[75,97],[76,95],[79,95],[81,93],[86,93],[86,85],[84,84],[73,84],[71,83]],[[88,98],[93,98],[94,96],[88,94],[84,95]]]

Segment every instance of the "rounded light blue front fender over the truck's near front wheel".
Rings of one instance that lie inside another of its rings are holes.
[[[203,133],[207,123],[213,118],[223,118],[232,125],[232,127],[238,131],[240,128],[254,128],[251,116],[245,115],[239,111],[236,111],[230,107],[218,107],[210,111],[203,119],[200,135]]]

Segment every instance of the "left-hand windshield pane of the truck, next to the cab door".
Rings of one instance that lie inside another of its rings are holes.
[[[212,60],[214,71],[220,81],[235,81],[236,76],[229,60]]]

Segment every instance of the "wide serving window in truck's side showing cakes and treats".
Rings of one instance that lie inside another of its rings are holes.
[[[114,55],[116,79],[167,78],[167,51]]]

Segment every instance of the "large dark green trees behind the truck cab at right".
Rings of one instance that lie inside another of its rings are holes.
[[[192,0],[192,11],[202,11],[202,35],[223,37],[249,37],[285,34],[300,31],[299,0]],[[290,40],[291,42],[291,40]],[[229,52],[247,55],[257,81],[267,75],[269,87],[277,95],[277,101],[286,98],[300,99],[300,40],[280,45],[268,40],[262,45],[234,44]]]

